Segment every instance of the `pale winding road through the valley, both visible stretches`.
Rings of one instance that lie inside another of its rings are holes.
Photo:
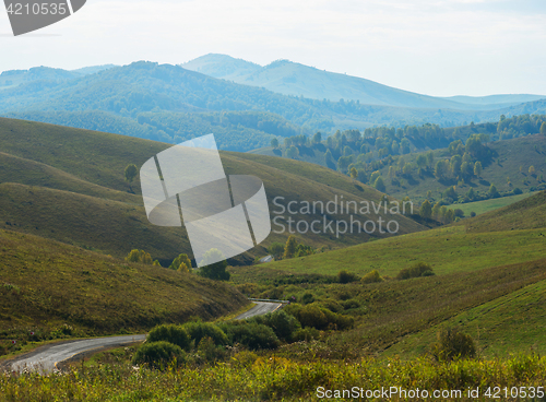
[[[283,305],[282,303],[270,302],[252,303],[256,304],[256,306],[238,316],[236,318],[237,320],[273,312]],[[7,367],[10,371],[23,373],[27,370],[48,374],[57,369],[59,363],[69,360],[78,355],[90,352],[95,353],[110,347],[124,346],[131,343],[142,342],[145,339],[146,335],[123,335],[60,342],[38,347],[36,351],[21,355],[13,360],[4,362],[2,366]]]

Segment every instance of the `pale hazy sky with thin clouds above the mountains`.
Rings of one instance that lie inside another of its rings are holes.
[[[288,59],[429,95],[546,95],[545,0],[87,0],[20,37],[0,12],[0,71],[209,52]]]

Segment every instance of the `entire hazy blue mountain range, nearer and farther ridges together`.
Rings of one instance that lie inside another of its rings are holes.
[[[268,146],[273,138],[317,131],[426,122],[453,127],[546,114],[546,98],[537,95],[437,98],[288,61],[262,68],[210,55],[183,66],[139,61],[4,71],[0,115],[168,143],[214,132],[221,149],[246,152]],[[288,90],[293,94],[282,94]]]

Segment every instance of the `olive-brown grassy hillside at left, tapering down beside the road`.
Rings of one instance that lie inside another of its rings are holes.
[[[190,316],[212,318],[247,303],[223,283],[28,234],[0,229],[0,354],[32,340],[130,333]]]

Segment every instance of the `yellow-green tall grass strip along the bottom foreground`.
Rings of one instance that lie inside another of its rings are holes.
[[[473,400],[486,401],[488,387],[543,387],[545,380],[546,357],[538,355],[443,364],[425,358],[301,363],[241,352],[229,363],[173,366],[165,371],[106,364],[50,376],[0,375],[0,401],[313,401],[319,387],[364,391],[401,387],[463,394],[468,387],[479,387],[482,398]]]

